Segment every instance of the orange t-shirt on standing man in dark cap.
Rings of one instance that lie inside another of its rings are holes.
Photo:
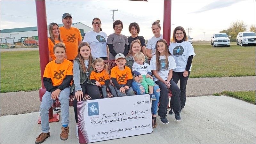
[[[79,29],[76,27],[71,27],[70,29],[66,29],[64,26],[60,27],[60,37],[66,45],[67,59],[74,60],[77,56],[78,41],[82,40]]]

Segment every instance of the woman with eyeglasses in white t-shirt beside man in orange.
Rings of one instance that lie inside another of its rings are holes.
[[[83,42],[89,43],[92,56],[108,60],[107,34],[100,31],[100,19],[94,18],[92,26],[93,30],[85,34]]]

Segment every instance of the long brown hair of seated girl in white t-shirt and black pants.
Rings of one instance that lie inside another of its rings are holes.
[[[170,53],[169,49],[168,49],[168,44],[166,42],[165,39],[160,39],[156,42],[156,48],[157,48],[157,43],[158,42],[164,42],[164,45],[165,45],[165,50],[164,50],[164,56],[165,56],[165,59],[166,59],[166,62],[165,62],[165,69],[167,69],[167,66],[169,65],[169,62],[168,62],[168,57],[169,56],[172,56],[172,54]],[[160,52],[156,49],[156,72],[159,72],[161,70],[160,68]]]

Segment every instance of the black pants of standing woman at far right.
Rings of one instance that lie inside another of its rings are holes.
[[[181,102],[180,108],[182,108],[182,109],[185,107],[185,103],[186,103],[186,86],[187,86],[189,74],[190,74],[190,72],[188,72],[187,77],[183,77],[183,72],[172,72],[173,81],[176,84],[178,84],[178,81],[180,80],[180,102]],[[171,105],[171,109],[173,109],[172,97],[171,97],[170,105]]]

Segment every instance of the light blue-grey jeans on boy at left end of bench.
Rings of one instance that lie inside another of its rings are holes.
[[[61,124],[69,124],[69,95],[70,87],[64,88],[59,95],[60,108],[61,108]],[[52,107],[53,100],[51,93],[46,91],[42,97],[40,105],[40,116],[41,116],[41,128],[43,133],[48,133],[50,130],[49,126],[49,109]]]

